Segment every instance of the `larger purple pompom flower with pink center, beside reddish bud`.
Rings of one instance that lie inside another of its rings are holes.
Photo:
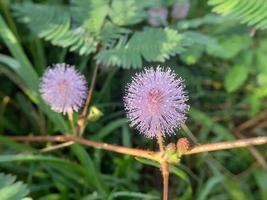
[[[149,138],[174,134],[189,109],[184,88],[183,80],[169,68],[148,68],[137,74],[124,97],[130,126]]]

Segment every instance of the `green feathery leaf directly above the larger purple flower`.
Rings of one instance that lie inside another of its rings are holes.
[[[124,39],[115,48],[100,52],[96,58],[108,66],[137,68],[142,66],[142,57],[148,62],[164,62],[190,44],[188,38],[173,29],[147,28],[136,32],[127,43]]]

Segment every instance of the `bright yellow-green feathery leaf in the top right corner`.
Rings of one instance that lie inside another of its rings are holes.
[[[222,15],[231,15],[241,23],[256,29],[267,28],[267,2],[265,0],[209,0],[213,11]]]

